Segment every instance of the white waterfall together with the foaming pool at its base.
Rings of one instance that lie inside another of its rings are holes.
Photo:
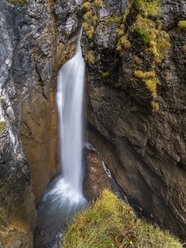
[[[76,54],[58,73],[56,105],[60,175],[49,184],[39,205],[35,247],[56,247],[56,234],[63,233],[67,221],[87,204],[82,189],[85,63],[80,37]]]

